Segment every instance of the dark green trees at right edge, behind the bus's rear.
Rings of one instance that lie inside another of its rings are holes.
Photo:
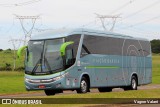
[[[151,41],[151,48],[153,53],[160,53],[160,39],[154,39]]]

